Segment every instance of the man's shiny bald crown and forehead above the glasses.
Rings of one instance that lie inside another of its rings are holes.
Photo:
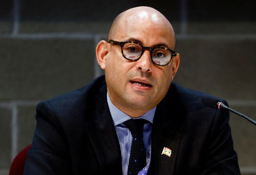
[[[124,41],[135,38],[151,47],[160,43],[175,48],[175,34],[170,22],[162,13],[151,7],[136,7],[117,16],[108,40]]]

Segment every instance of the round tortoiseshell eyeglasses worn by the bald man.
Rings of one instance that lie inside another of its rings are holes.
[[[130,61],[137,61],[141,58],[146,49],[150,50],[151,61],[158,66],[166,66],[171,60],[172,56],[176,56],[177,52],[164,46],[145,47],[136,41],[114,41],[110,40],[108,43],[121,47],[122,55],[125,59]]]

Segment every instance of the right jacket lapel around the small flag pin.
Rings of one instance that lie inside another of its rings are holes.
[[[186,109],[174,97],[173,92],[170,96],[167,94],[157,105],[153,121],[151,163],[148,174],[173,174],[185,117]],[[164,147],[172,150],[171,157],[162,155]]]

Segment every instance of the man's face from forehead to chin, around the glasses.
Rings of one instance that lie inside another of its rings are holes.
[[[129,19],[124,20],[118,33],[111,39],[135,40],[148,47],[166,45],[172,50],[175,46],[171,30],[151,19],[136,23],[131,23]],[[132,62],[122,56],[120,46],[111,45],[106,60],[105,76],[112,103],[123,111],[133,109],[146,112],[152,109],[164,98],[169,89],[175,74],[172,64],[173,58],[167,66],[153,64],[149,50],[145,50],[138,61]]]

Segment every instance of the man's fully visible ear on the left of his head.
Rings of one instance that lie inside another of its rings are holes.
[[[97,61],[101,69],[105,69],[107,56],[110,51],[110,47],[107,41],[101,40],[96,47]]]

